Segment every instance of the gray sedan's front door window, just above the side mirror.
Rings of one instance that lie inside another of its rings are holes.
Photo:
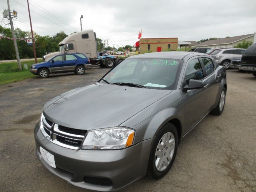
[[[188,63],[185,74],[185,81],[188,84],[190,79],[202,80],[204,78],[202,66],[198,58],[191,60]]]

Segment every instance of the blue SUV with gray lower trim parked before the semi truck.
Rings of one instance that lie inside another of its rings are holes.
[[[75,72],[84,74],[85,70],[92,68],[90,59],[82,53],[58,54],[46,62],[34,64],[30,72],[40,78],[47,78],[52,73]]]

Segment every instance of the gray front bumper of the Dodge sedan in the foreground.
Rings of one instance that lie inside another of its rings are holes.
[[[39,123],[36,124],[34,137],[37,157],[50,172],[75,186],[97,191],[118,190],[142,178],[146,174],[154,139],[122,150],[72,150],[46,139]],[[42,158],[40,147],[54,155],[56,168]],[[110,184],[106,185],[106,180]]]

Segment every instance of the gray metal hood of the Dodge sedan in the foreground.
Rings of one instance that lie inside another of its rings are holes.
[[[171,90],[92,84],[47,103],[44,115],[62,126],[83,130],[119,126]]]

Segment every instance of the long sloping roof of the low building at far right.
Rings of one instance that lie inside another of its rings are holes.
[[[243,40],[243,39],[251,37],[251,36],[254,36],[254,34],[240,35],[240,36],[234,36],[234,37],[228,37],[228,38],[220,38],[220,39],[215,39],[215,40],[208,40],[208,41],[202,42],[202,43],[200,43],[200,44],[198,44],[196,46],[232,44],[234,42]]]

